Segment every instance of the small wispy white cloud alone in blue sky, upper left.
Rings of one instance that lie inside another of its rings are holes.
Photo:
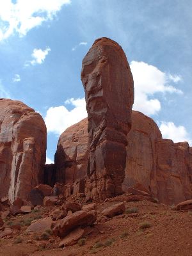
[[[31,54],[31,57],[33,58],[33,60],[26,61],[25,67],[28,67],[29,63],[31,63],[31,65],[33,66],[36,64],[42,64],[45,61],[45,58],[50,51],[51,49],[49,47],[47,47],[44,51],[42,49],[34,49],[33,53]]]

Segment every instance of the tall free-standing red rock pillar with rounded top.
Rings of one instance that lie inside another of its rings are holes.
[[[81,80],[90,149],[86,196],[102,200],[122,193],[131,129],[133,79],[120,45],[109,38],[96,40],[83,59]]]

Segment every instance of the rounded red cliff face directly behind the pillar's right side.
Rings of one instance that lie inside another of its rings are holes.
[[[123,189],[142,184],[148,191],[156,187],[156,140],[162,140],[157,124],[138,111],[132,111],[132,128],[127,136],[127,163]]]

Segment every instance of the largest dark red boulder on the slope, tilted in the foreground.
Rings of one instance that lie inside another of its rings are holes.
[[[77,211],[69,216],[57,221],[53,228],[53,233],[56,236],[65,237],[69,232],[77,227],[86,227],[93,225],[97,219],[96,211]]]

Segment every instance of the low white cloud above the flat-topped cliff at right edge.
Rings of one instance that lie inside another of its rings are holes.
[[[161,122],[159,129],[164,139],[170,139],[174,142],[188,141],[192,143],[186,128],[182,125],[176,126],[173,122]]]

